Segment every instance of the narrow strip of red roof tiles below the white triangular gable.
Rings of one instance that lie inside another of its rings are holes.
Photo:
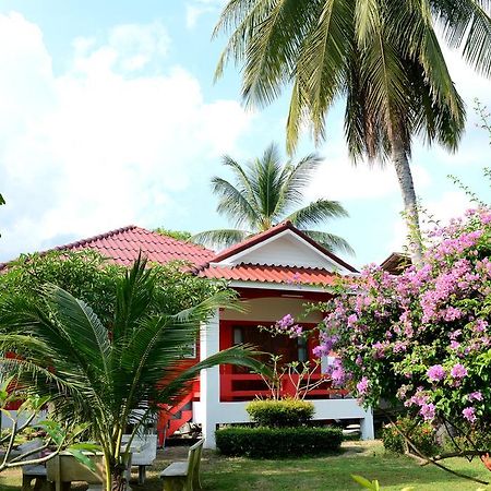
[[[287,285],[331,285],[336,277],[335,273],[314,267],[268,266],[262,264],[209,266],[197,274],[206,278]]]

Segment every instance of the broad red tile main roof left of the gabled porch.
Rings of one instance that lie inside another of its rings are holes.
[[[195,266],[206,264],[215,255],[201,246],[164,237],[134,225],[56,248],[61,251],[82,249],[94,249],[124,266],[130,265],[140,251],[151,262],[165,264],[178,260],[189,261]]]

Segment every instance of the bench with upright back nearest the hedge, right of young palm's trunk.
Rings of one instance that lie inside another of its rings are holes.
[[[193,491],[202,489],[200,482],[201,453],[204,439],[190,447],[187,462],[175,462],[160,472],[164,491]]]

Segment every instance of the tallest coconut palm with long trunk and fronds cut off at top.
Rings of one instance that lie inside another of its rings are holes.
[[[390,158],[395,167],[419,261],[412,137],[455,151],[465,123],[435,27],[489,76],[489,9],[488,0],[230,0],[214,33],[230,33],[216,76],[233,59],[242,69],[246,103],[259,106],[292,86],[289,152],[303,123],[316,142],[324,140],[325,116],[344,98],[352,157]]]

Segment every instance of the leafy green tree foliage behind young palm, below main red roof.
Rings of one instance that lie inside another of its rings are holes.
[[[225,284],[189,273],[189,264],[184,262],[153,263],[152,270],[154,295],[164,312],[179,312],[225,289]],[[0,274],[0,301],[22,295],[26,301],[37,302],[43,286],[53,284],[91,306],[100,321],[108,324],[115,315],[117,285],[125,271],[89,249],[25,254]]]

